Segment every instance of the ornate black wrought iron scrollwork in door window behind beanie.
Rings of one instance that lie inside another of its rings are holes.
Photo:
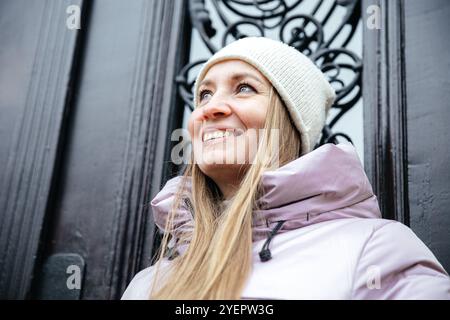
[[[338,113],[323,129],[321,141],[317,146],[328,142],[337,143],[338,136],[352,142],[348,135],[333,133],[332,129],[362,95],[361,58],[346,48],[361,18],[360,0],[314,0],[315,5],[309,12],[300,13],[293,11],[299,9],[302,3],[308,2],[307,0],[209,1],[224,25],[222,34],[218,34],[214,28],[205,0],[189,0],[189,12],[194,28],[211,54],[219,50],[213,40],[221,40],[223,47],[243,37],[267,36],[267,32],[279,28],[278,40],[307,55],[321,68],[336,90],[337,98],[332,108],[337,109]],[[331,5],[327,7],[326,3]],[[252,10],[249,10],[250,6]],[[331,26],[330,17],[338,9],[344,13],[341,14],[340,22]],[[325,12],[320,19],[317,15],[319,10]],[[233,19],[229,16],[233,16]],[[249,26],[254,27],[256,32],[245,32],[243,26],[247,26],[247,29]],[[191,110],[194,107],[192,90],[195,77],[189,79],[189,75],[194,74],[193,70],[205,62],[206,60],[200,60],[189,63],[176,79],[179,93]]]

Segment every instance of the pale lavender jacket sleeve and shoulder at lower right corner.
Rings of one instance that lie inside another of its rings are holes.
[[[427,246],[400,222],[374,230],[354,273],[353,299],[450,299],[450,278]]]

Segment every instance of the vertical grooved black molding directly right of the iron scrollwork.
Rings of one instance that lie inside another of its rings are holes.
[[[380,28],[369,29],[370,6]],[[404,2],[363,0],[365,169],[384,218],[409,225]]]

